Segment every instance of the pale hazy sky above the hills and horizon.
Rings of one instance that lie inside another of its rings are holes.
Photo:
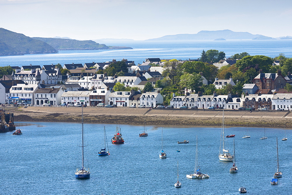
[[[292,36],[291,0],[0,0],[0,27],[34,37],[145,40],[229,29]]]

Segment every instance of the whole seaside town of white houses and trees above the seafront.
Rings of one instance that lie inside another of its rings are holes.
[[[213,52],[213,53],[212,53]],[[1,67],[3,106],[292,110],[291,58],[209,50],[198,59]],[[216,63],[212,63],[216,62]],[[6,73],[6,74],[5,74]]]

